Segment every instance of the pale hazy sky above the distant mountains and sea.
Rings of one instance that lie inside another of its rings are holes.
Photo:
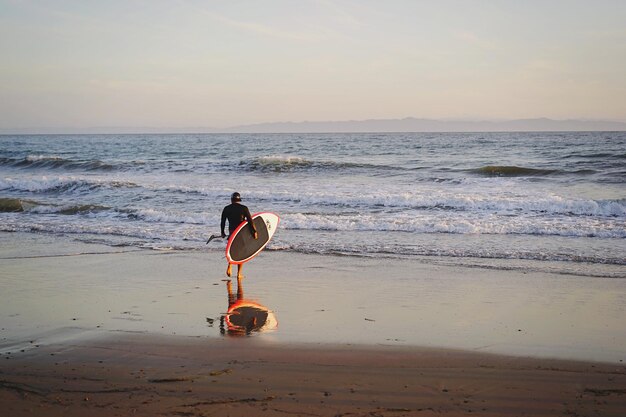
[[[626,121],[626,1],[0,0],[0,128]]]

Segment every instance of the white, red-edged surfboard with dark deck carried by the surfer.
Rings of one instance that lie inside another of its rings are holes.
[[[228,263],[241,265],[254,258],[268,244],[280,219],[274,213],[256,213],[252,215],[254,227],[258,233],[255,239],[247,221],[241,223],[228,238],[226,259]]]

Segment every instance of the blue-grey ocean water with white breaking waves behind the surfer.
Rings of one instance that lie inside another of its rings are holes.
[[[219,256],[233,191],[267,250],[626,278],[625,132],[0,136],[2,232]]]

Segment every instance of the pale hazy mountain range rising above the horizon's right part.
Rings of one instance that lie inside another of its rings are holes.
[[[563,132],[626,131],[626,123],[599,120],[517,119],[506,121],[371,119],[336,122],[260,123],[223,129],[237,133],[322,132]]]

